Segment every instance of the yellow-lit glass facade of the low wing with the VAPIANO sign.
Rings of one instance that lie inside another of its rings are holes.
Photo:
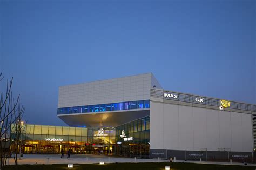
[[[102,128],[104,136],[97,136],[100,128],[68,126],[24,125],[22,152],[25,154],[58,154],[63,148],[72,154],[113,154],[116,131]]]

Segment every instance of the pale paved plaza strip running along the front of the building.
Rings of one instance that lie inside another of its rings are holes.
[[[33,155],[33,154],[24,154],[21,157],[21,160],[18,160],[18,164],[97,164],[99,162],[105,163],[124,163],[124,162],[168,162],[169,160],[164,159],[140,159],[140,158],[126,158],[126,157],[113,157],[107,155],[91,155],[91,154],[79,154],[79,155],[70,155],[70,158],[60,158],[60,155]],[[199,164],[221,164],[221,165],[231,165],[230,162],[200,162],[200,161],[184,161],[176,160],[176,162],[192,162]],[[14,159],[10,158],[10,165],[14,165]],[[233,162],[232,165],[244,165],[242,163]],[[256,166],[255,164],[248,164],[248,166]]]

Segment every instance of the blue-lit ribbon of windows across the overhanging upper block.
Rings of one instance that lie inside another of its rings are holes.
[[[120,103],[75,106],[75,107],[63,107],[63,108],[58,108],[57,114],[121,111],[121,110],[131,110],[131,109],[139,109],[139,108],[150,108],[150,100],[127,101],[127,102],[120,102]]]

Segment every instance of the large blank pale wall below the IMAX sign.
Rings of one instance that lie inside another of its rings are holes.
[[[150,102],[150,149],[252,152],[251,114]]]

